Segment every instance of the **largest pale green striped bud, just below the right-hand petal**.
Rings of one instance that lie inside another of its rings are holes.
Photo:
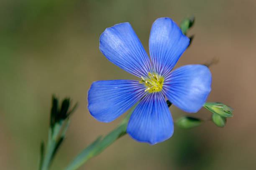
[[[233,108],[224,105],[220,102],[205,102],[203,105],[207,110],[209,110],[212,113],[217,113],[222,117],[233,117],[232,111]]]

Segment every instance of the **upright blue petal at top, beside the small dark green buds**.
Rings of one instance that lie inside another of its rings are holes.
[[[149,53],[154,71],[169,73],[189,45],[189,38],[182,33],[171,18],[158,18],[151,27]]]

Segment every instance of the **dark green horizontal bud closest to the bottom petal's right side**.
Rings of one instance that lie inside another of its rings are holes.
[[[200,126],[203,123],[202,120],[197,119],[195,117],[180,117],[179,120],[177,120],[176,124],[180,128],[189,129],[194,128],[197,126]]]

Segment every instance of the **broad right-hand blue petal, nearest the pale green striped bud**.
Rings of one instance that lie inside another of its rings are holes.
[[[212,75],[205,65],[179,67],[164,79],[164,95],[186,112],[197,112],[211,91]]]

